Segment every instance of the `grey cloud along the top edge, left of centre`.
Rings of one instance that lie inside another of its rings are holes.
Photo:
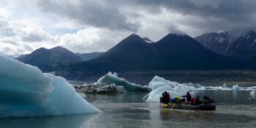
[[[44,12],[53,12],[57,15],[78,20],[79,23],[108,29],[124,29],[136,31],[137,23],[127,20],[113,1],[50,1],[38,2]]]

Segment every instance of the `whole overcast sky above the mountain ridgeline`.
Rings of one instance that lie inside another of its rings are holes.
[[[7,56],[58,45],[105,51],[132,33],[157,41],[230,29],[256,29],[255,0],[0,1],[0,54]]]

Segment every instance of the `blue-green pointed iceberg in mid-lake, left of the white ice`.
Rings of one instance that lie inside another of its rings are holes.
[[[148,88],[148,86],[140,86],[135,83],[130,83],[124,78],[118,78],[116,72],[108,72],[108,74],[102,76],[102,78],[99,78],[97,83],[94,84],[99,86],[115,84],[116,86],[124,86],[124,89],[126,91],[151,91],[151,89]]]

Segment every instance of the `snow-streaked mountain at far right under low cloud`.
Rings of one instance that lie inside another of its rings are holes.
[[[212,32],[195,39],[208,50],[224,56],[246,59],[256,54],[256,32],[253,30]]]

